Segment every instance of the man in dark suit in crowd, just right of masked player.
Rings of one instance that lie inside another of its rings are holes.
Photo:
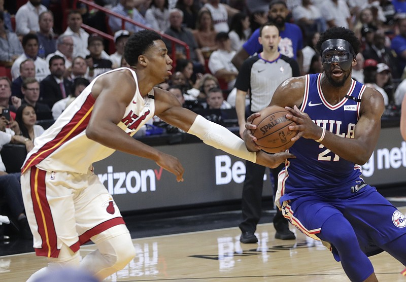
[[[393,74],[393,78],[400,78],[399,72],[396,67],[396,58],[393,56],[389,47],[385,46],[385,33],[382,29],[379,29],[374,34],[373,43],[369,49],[365,49],[362,52],[365,59],[374,59],[378,63],[387,64]]]

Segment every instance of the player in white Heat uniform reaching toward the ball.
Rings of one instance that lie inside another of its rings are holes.
[[[130,68],[100,75],[56,122],[36,138],[22,168],[21,186],[34,248],[48,267],[81,266],[99,279],[122,269],[135,255],[128,229],[113,198],[93,173],[92,163],[115,150],[154,160],[183,181],[174,156],[132,138],[147,120],[163,121],[206,144],[261,165],[276,167],[292,154],[249,152],[226,128],[182,108],[170,92],[155,85],[171,76],[172,59],[158,33],[132,34],[124,57]],[[97,250],[80,262],[79,247],[92,240]]]

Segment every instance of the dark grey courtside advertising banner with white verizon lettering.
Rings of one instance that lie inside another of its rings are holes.
[[[203,143],[156,146],[176,156],[185,168],[184,182],[155,162],[116,152],[94,164],[121,211],[176,207],[241,199],[245,161]],[[357,152],[354,152],[356,154]],[[406,184],[406,142],[399,128],[383,128],[376,150],[363,165],[371,185]],[[263,195],[272,195],[269,170]]]

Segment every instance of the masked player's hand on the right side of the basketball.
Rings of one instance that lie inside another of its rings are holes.
[[[293,106],[293,109],[290,107],[285,107],[290,115],[286,115],[286,118],[294,121],[297,125],[290,125],[290,130],[297,130],[296,136],[292,138],[293,142],[296,142],[300,137],[307,139],[317,140],[321,136],[322,129],[320,126],[315,124],[308,114],[303,113],[296,107]]]

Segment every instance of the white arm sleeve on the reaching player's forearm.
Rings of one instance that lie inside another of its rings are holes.
[[[255,163],[257,154],[249,152],[244,140],[227,128],[198,115],[187,133],[199,137],[205,144],[236,157]]]

